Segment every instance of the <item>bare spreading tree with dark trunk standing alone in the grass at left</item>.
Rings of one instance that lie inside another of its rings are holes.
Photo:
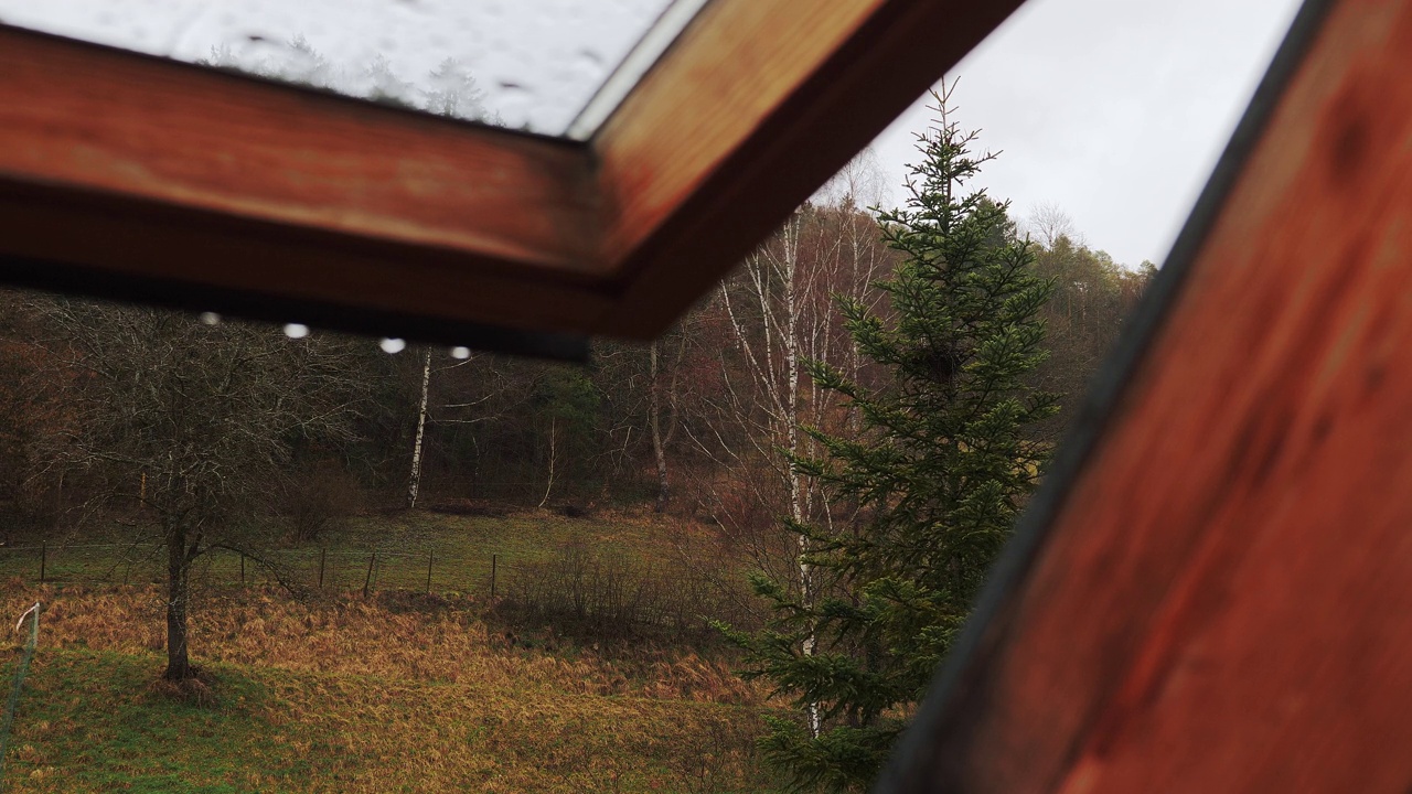
[[[82,473],[99,513],[140,506],[133,524],[167,555],[164,675],[191,678],[192,565],[215,548],[268,564],[271,485],[297,446],[352,432],[363,390],[349,343],[64,298],[31,308],[51,363],[76,373],[69,429],[41,446],[41,465]]]

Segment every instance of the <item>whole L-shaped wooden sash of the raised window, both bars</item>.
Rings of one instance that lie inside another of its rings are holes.
[[[1018,6],[713,0],[583,143],[0,27],[0,278],[551,356],[650,339]]]

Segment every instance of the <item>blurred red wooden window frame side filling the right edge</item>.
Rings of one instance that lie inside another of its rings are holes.
[[[1334,4],[887,791],[1412,787],[1409,52]]]

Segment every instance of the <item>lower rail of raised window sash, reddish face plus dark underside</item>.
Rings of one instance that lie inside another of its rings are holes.
[[[582,328],[594,189],[582,147],[0,27],[14,256]]]

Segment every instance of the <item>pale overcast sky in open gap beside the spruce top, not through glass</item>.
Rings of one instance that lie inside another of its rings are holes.
[[[1161,264],[1298,6],[1029,0],[953,72],[960,123],[1001,150],[981,182],[1021,219],[1053,203],[1120,263]],[[874,143],[894,185],[923,105]]]

